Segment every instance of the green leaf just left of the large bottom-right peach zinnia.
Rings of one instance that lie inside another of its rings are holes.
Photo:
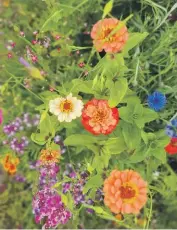
[[[89,180],[86,182],[83,193],[87,193],[90,189],[96,189],[102,186],[103,184],[103,178],[100,174],[94,175],[89,178]]]

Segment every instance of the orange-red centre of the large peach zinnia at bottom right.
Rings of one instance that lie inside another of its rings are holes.
[[[135,185],[130,183],[125,183],[120,187],[120,197],[126,203],[132,203],[137,196],[137,188]]]

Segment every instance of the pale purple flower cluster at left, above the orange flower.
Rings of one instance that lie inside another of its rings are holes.
[[[6,134],[7,139],[3,140],[2,143],[9,145],[13,151],[23,154],[29,144],[29,140],[26,136],[19,137],[18,134],[24,130],[36,127],[39,119],[39,115],[31,117],[29,113],[23,114],[22,117],[16,117],[14,121],[3,126],[3,132]]]

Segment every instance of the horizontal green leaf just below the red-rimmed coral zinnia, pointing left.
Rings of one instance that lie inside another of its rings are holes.
[[[91,145],[97,143],[97,139],[93,136],[86,135],[86,134],[74,134],[69,137],[67,137],[64,140],[65,145]]]

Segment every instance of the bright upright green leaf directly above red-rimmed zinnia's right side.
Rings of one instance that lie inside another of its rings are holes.
[[[123,99],[128,88],[128,83],[125,78],[119,78],[118,81],[110,88],[110,98],[108,103],[110,107],[117,106]]]

